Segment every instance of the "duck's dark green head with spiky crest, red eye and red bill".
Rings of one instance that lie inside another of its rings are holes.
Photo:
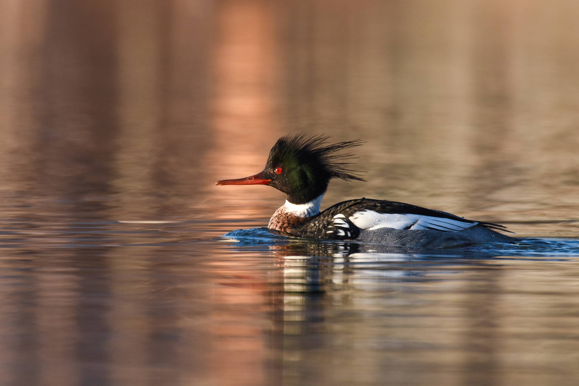
[[[265,169],[237,180],[221,180],[216,185],[270,185],[287,194],[287,201],[303,204],[323,195],[333,178],[364,181],[357,170],[349,169],[354,156],[343,149],[360,146],[362,141],[329,144],[328,136],[305,133],[286,135],[269,151]]]

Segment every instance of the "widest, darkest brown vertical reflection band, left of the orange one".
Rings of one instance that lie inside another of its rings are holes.
[[[35,179],[60,195],[72,235],[75,222],[87,222],[90,228],[91,221],[108,218],[115,193],[111,188],[118,134],[114,15],[112,5],[97,2],[58,1],[47,9],[42,76],[46,106],[35,138]],[[87,236],[73,237],[82,244]],[[110,383],[104,365],[110,360],[111,333],[108,250],[76,247],[65,259],[76,270],[71,276],[76,283],[76,339],[70,359],[78,366],[80,384]]]

